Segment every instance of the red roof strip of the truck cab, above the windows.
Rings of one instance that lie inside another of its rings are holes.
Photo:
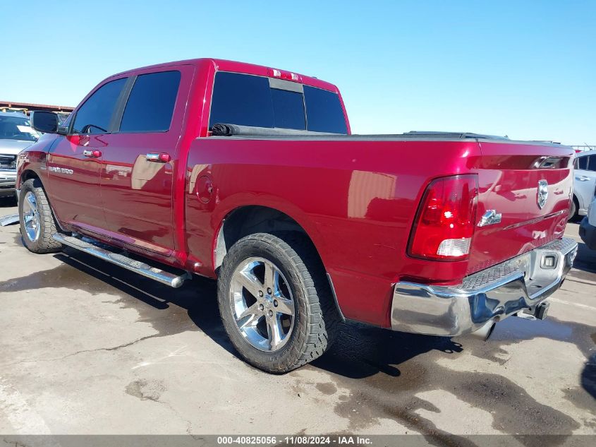
[[[286,70],[285,68],[280,68],[277,66],[268,67],[268,66],[262,66],[262,65],[247,64],[245,62],[228,61],[226,59],[213,59],[213,58],[208,57],[208,58],[200,58],[200,59],[186,59],[183,61],[165,62],[164,64],[155,64],[155,65],[133,68],[131,70],[126,70],[126,71],[121,71],[120,73],[116,73],[116,74],[110,76],[110,78],[113,78],[114,76],[121,76],[123,74],[133,74],[137,71],[147,70],[150,68],[167,68],[169,66],[176,66],[176,65],[200,66],[201,64],[205,64],[205,63],[212,64],[216,71],[231,71],[233,73],[246,73],[246,74],[251,74],[251,75],[256,75],[256,76],[269,77],[269,74],[267,73],[269,68],[276,68],[278,70],[283,70],[283,71],[291,71],[291,70]],[[302,84],[304,84],[304,85],[310,85],[312,87],[322,88],[324,90],[330,90],[332,92],[339,93],[338,88],[332,83],[322,81],[318,78],[313,78],[312,76],[305,76],[301,73],[297,73],[296,71],[291,71],[291,72],[297,74],[298,76],[301,76]]]

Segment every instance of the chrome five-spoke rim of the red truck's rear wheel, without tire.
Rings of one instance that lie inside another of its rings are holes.
[[[234,270],[230,304],[236,328],[257,350],[277,351],[290,339],[296,306],[288,281],[271,261],[248,258]]]

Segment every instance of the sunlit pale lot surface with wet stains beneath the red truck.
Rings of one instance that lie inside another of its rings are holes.
[[[567,234],[580,242],[576,223]],[[508,318],[489,342],[348,324],[284,376],[236,358],[210,280],[172,290],[76,251],[31,254],[18,225],[0,227],[0,266],[1,434],[596,434],[583,244],[545,321]]]

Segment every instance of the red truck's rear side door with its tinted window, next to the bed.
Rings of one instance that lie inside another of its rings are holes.
[[[171,66],[131,76],[102,159],[109,236],[163,256],[174,251],[175,164],[193,70]]]

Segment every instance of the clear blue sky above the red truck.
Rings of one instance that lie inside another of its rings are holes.
[[[592,0],[28,0],[0,18],[0,100],[77,105],[118,71],[212,56],[335,83],[354,133],[596,144]]]

